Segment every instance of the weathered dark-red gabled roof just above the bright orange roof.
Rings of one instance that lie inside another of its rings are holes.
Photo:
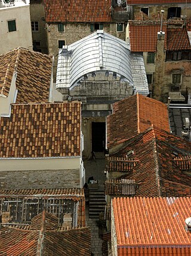
[[[134,169],[124,176],[139,185],[135,196],[168,197],[191,196],[191,177],[175,164],[174,154],[179,157],[191,155],[191,143],[164,130],[149,128],[126,141],[126,146],[111,154],[124,157],[129,150],[139,161]]]

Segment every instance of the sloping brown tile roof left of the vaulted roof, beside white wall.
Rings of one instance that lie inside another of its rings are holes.
[[[0,55],[0,95],[8,96],[17,72],[17,103],[47,102],[53,56],[23,48]]]

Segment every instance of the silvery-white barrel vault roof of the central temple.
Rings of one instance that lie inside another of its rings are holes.
[[[84,75],[106,71],[128,80],[135,92],[149,94],[143,56],[132,54],[125,41],[102,30],[59,51],[56,88],[72,89]]]

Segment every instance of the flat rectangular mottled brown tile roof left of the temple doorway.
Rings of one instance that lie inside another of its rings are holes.
[[[79,156],[81,103],[13,104],[0,131],[0,158]]]

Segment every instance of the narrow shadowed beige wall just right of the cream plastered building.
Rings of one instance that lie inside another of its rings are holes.
[[[47,32],[45,30],[44,17],[44,6],[42,2],[32,2],[32,4],[30,4],[30,19],[31,21],[36,21],[39,24],[39,30],[32,31],[32,38],[33,41],[39,41],[41,43],[42,53],[48,53]]]

